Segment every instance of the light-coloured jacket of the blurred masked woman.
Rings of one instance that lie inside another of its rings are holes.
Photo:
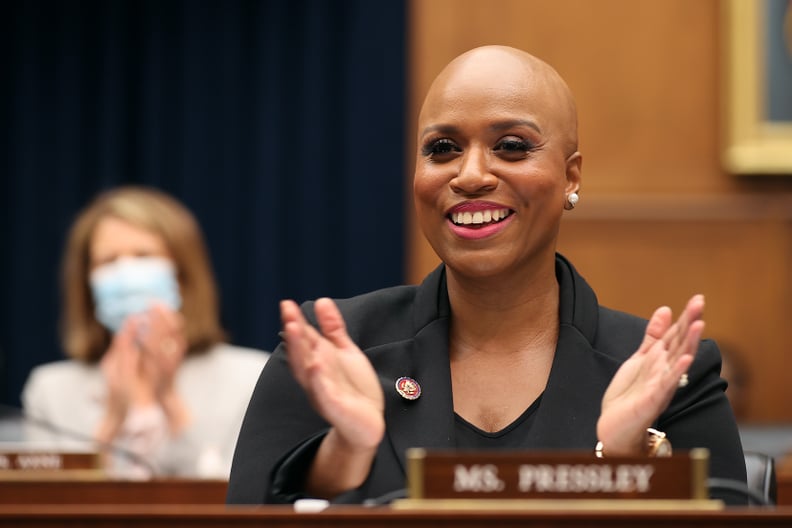
[[[268,352],[218,344],[188,356],[176,385],[191,422],[176,437],[159,407],[130,413],[111,448],[117,478],[227,479],[239,429]],[[52,449],[96,449],[92,435],[105,409],[98,365],[63,360],[36,367],[22,391],[26,441]]]

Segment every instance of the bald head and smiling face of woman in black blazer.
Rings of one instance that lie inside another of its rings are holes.
[[[418,221],[435,253],[462,275],[463,262],[508,267],[519,265],[509,259],[536,251],[552,254],[562,206],[580,186],[574,102],[566,84],[538,60],[529,62],[530,72],[516,54],[501,62],[471,59],[446,69],[418,117]],[[495,88],[489,76],[499,79]],[[532,85],[535,104],[526,105],[525,86]],[[470,215],[481,225],[473,217],[483,220],[493,210],[499,221],[487,226],[474,228],[466,220]],[[460,213],[462,222],[444,225]],[[461,242],[490,237],[486,246]]]

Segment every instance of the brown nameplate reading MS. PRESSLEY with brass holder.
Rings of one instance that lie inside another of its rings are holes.
[[[580,451],[410,449],[395,508],[720,509],[708,499],[709,451],[596,458]]]

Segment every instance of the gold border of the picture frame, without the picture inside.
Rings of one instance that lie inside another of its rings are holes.
[[[734,174],[792,175],[792,119],[768,117],[770,66],[765,60],[766,35],[768,23],[779,23],[768,20],[770,1],[773,0],[725,1],[727,95],[723,163]],[[787,38],[792,39],[789,10],[792,7],[787,7],[786,31]],[[787,52],[792,55],[792,49]]]

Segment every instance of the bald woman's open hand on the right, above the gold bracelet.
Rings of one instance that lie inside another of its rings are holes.
[[[606,455],[646,452],[646,429],[668,407],[693,362],[704,321],[704,297],[694,295],[672,324],[671,309],[658,308],[644,340],[624,362],[602,398],[597,438]]]

